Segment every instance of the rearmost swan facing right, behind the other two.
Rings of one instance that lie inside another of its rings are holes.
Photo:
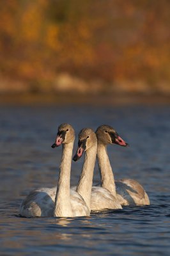
[[[123,147],[127,147],[128,144],[109,125],[99,126],[96,134],[97,160],[102,188],[107,188],[112,195],[117,196],[121,205],[149,205],[150,200],[146,191],[136,180],[121,179],[114,182],[114,175],[107,155],[107,144],[116,143]]]

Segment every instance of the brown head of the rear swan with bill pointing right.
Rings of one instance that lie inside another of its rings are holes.
[[[128,143],[126,143],[119,134],[109,125],[101,125],[97,128],[97,141],[98,143],[107,144],[118,144],[123,147],[127,147]]]

